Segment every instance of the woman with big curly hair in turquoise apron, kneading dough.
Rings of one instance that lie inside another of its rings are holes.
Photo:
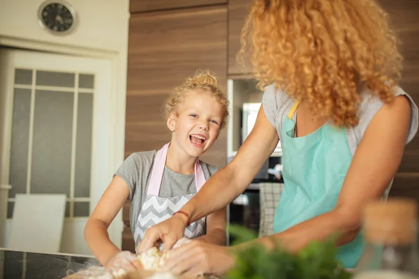
[[[256,125],[184,215],[147,230],[140,250],[161,238],[170,248],[186,223],[232,202],[281,140],[285,190],[275,234],[257,241],[279,239],[295,251],[340,232],[338,257],[353,268],[363,249],[361,210],[388,193],[418,130],[418,107],[397,86],[401,55],[387,15],[374,0],[255,0],[242,53],[247,39],[256,78],[272,84]],[[171,251],[168,267],[223,273],[234,264],[227,250],[190,243]]]

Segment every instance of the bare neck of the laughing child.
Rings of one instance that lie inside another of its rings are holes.
[[[191,157],[180,150],[175,142],[170,143],[166,166],[178,174],[194,174],[196,157]]]

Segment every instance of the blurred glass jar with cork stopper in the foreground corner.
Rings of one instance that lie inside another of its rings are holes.
[[[418,279],[418,206],[412,199],[367,204],[363,216],[365,250],[355,279]]]

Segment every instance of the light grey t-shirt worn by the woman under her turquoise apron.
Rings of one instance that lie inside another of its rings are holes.
[[[364,89],[360,95],[362,96],[362,102],[359,110],[359,122],[355,127],[347,128],[346,135],[348,137],[348,146],[351,150],[352,156],[355,154],[358,145],[367,130],[369,123],[371,122],[374,115],[383,106],[383,101],[373,94],[369,89]],[[411,104],[411,123],[409,127],[409,135],[406,140],[406,144],[409,143],[418,131],[418,107],[413,102],[412,98],[403,91],[399,86],[395,87],[395,96],[404,95],[409,99]],[[266,114],[267,119],[270,121],[272,126],[277,129],[279,140],[281,140],[281,127],[284,119],[288,116],[291,107],[295,103],[295,100],[290,96],[286,95],[284,91],[278,91],[275,89],[275,84],[265,87],[265,93],[263,94],[263,110]],[[295,114],[293,116],[295,121]]]

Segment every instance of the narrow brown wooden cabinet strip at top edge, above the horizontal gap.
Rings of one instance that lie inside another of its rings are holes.
[[[225,3],[227,0],[131,0],[129,11],[130,13],[144,13],[151,10],[170,10]]]

